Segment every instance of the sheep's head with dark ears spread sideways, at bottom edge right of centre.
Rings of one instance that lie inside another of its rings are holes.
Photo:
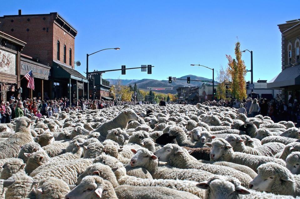
[[[208,199],[236,199],[240,198],[239,194],[247,195],[250,194],[247,189],[241,185],[235,186],[235,184],[224,179],[215,179],[213,181],[204,181],[196,184],[200,189],[208,189]]]

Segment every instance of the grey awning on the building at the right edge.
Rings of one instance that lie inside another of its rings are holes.
[[[300,85],[300,65],[288,67],[267,83],[267,88]]]

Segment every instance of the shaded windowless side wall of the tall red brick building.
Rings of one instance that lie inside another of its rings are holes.
[[[45,18],[45,20],[43,20]],[[40,63],[52,63],[53,16],[12,16],[0,18],[0,30],[27,44],[22,53],[39,58]],[[29,21],[27,19],[30,19]],[[13,20],[13,22],[11,22]],[[45,28],[45,30],[43,30]],[[47,32],[48,28],[48,32]],[[13,29],[13,31],[12,31]],[[27,31],[29,29],[29,31]]]

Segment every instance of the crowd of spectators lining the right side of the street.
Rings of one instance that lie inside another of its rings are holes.
[[[244,113],[248,117],[254,117],[258,114],[269,116],[274,122],[293,121],[300,126],[300,105],[297,99],[292,99],[291,94],[288,95],[288,101],[285,102],[281,98],[273,98],[272,100],[259,98],[243,98],[239,101],[219,100],[208,101],[204,104],[212,106],[234,107],[238,109],[238,113]]]

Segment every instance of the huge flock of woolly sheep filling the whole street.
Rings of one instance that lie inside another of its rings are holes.
[[[294,198],[291,121],[202,104],[114,106],[0,124],[0,199]]]

